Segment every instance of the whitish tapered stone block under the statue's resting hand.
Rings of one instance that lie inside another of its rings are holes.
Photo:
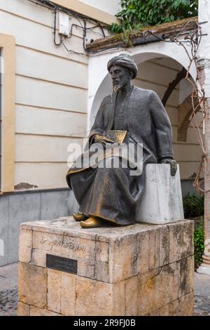
[[[147,164],[146,185],[136,220],[144,223],[172,223],[183,220],[179,165],[171,176],[169,164]]]

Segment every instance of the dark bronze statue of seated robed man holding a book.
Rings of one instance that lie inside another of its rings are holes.
[[[129,166],[69,169],[66,180],[79,204],[79,212],[74,213],[73,218],[80,221],[83,228],[134,223],[137,206],[144,194],[146,164],[169,163],[171,175],[176,173],[172,126],[160,98],[154,91],[132,85],[138,71],[132,56],[125,53],[115,56],[107,67],[113,81],[113,93],[102,100],[88,147],[94,143],[113,143],[108,131],[127,131],[130,143],[143,146],[143,171],[132,176]],[[104,157],[111,164],[112,156]]]

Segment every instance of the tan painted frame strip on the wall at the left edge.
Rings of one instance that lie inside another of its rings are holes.
[[[15,39],[0,33],[1,187],[13,190],[15,166]]]

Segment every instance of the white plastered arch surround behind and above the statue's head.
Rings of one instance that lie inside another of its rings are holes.
[[[152,44],[144,44],[134,48],[127,48],[121,51],[110,51],[109,53],[99,53],[99,55],[90,56],[89,60],[89,82],[88,82],[88,103],[87,103],[87,130],[92,126],[94,116],[99,107],[100,101],[105,95],[111,92],[109,88],[109,74],[107,73],[106,64],[115,55],[120,53],[129,53],[134,56],[134,60],[139,65],[147,60],[154,58],[172,58],[179,62],[182,67],[188,69],[189,59],[186,51],[182,46],[175,43],[165,43],[159,41]],[[195,79],[195,66],[190,68],[190,75]]]

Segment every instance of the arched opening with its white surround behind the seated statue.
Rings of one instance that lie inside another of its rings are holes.
[[[128,53],[132,53],[139,68],[137,78],[133,81],[134,85],[140,88],[152,89],[162,100],[169,84],[176,79],[177,74],[183,70],[183,67],[188,68],[188,58],[186,58],[186,54],[181,47],[174,44],[165,45],[160,42],[155,46],[159,45],[159,50],[160,44],[163,44],[165,47],[165,51],[161,51],[161,53],[145,51],[145,48],[151,47],[151,45],[137,47],[141,48],[141,53],[138,53],[136,48]],[[174,53],[173,56],[169,56],[172,53],[172,46]],[[179,48],[179,53],[177,52],[177,47]],[[142,48],[144,48],[144,52]],[[168,55],[166,55],[166,52]],[[118,53],[122,53],[122,51]],[[111,78],[107,74],[106,63],[111,57],[118,55],[118,53],[99,55],[92,58],[92,63],[90,63],[90,70],[94,63],[94,72],[91,72],[92,78],[95,74],[97,79],[90,86],[89,129],[94,122],[94,117],[103,98],[111,93]],[[191,68],[190,74],[191,77],[195,77],[195,67]],[[186,79],[181,79],[165,105],[172,123],[174,159],[178,161],[180,166],[183,194],[193,190],[193,178],[195,173],[197,173],[202,153],[193,126],[189,121],[191,112],[189,95],[191,91],[192,85]],[[202,117],[202,114],[198,112],[197,117]]]

